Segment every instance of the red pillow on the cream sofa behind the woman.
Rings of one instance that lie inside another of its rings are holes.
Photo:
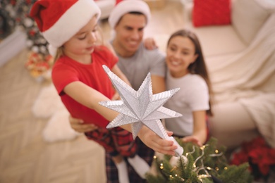
[[[193,25],[228,25],[231,23],[231,0],[194,0]]]

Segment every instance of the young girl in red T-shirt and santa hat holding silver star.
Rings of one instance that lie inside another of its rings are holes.
[[[63,104],[73,118],[99,127],[85,133],[87,138],[97,141],[111,153],[120,182],[129,182],[123,156],[128,157],[128,162],[141,177],[145,176],[149,165],[135,156],[135,142],[128,132],[130,125],[123,126],[128,131],[120,127],[106,130],[106,125],[118,113],[99,105],[99,101],[109,100],[115,94],[102,65],[107,65],[118,77],[128,81],[116,65],[118,58],[105,46],[96,45],[100,13],[92,0],[40,0],[32,6],[30,15],[49,42],[50,53],[55,53],[52,80]],[[175,146],[171,141],[156,137],[146,127],[142,128],[139,137],[152,149],[173,154],[171,151]]]

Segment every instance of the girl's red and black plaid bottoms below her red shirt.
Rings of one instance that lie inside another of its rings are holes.
[[[85,135],[88,139],[97,141],[108,153],[119,153],[121,156],[133,157],[137,151],[137,144],[135,144],[133,135],[121,127],[99,128],[92,132],[86,132]]]

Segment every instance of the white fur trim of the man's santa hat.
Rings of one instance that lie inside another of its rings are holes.
[[[109,15],[108,20],[111,28],[114,29],[114,27],[118,23],[118,20],[120,20],[123,15],[133,11],[144,14],[147,18],[147,23],[149,22],[149,19],[151,18],[151,13],[149,6],[145,3],[145,1],[124,0],[118,3]]]

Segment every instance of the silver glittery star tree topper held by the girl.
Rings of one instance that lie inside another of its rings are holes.
[[[102,65],[109,76],[116,91],[121,96],[120,101],[101,101],[100,105],[110,108],[120,113],[106,128],[118,127],[130,124],[132,127],[133,138],[137,137],[142,125],[147,126],[150,130],[159,135],[162,139],[173,140],[177,144],[176,156],[183,154],[183,148],[178,142],[169,137],[164,126],[159,119],[176,118],[182,116],[180,113],[164,108],[162,105],[168,101],[173,94],[178,92],[177,89],[171,89],[159,94],[152,94],[152,82],[150,73],[142,82],[138,91],[135,91],[126,82],[123,82],[106,66]]]

